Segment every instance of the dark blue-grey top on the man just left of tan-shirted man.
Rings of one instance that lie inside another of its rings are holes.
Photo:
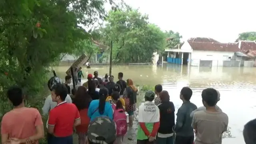
[[[190,114],[196,109],[196,105],[191,102],[184,102],[178,109],[176,125],[174,126],[174,132],[177,136],[194,136]]]

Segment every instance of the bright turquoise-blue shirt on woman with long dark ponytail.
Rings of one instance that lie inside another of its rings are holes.
[[[99,102],[100,100],[92,100],[88,109],[88,117],[90,121],[98,116],[108,116],[110,119],[113,119],[113,110],[109,102],[105,102],[104,113],[100,114],[99,112]]]

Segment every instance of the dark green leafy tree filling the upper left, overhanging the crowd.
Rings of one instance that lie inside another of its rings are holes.
[[[105,0],[1,0],[0,2],[0,114],[10,110],[6,89],[24,88],[28,106],[41,110],[49,66],[61,54],[74,54],[90,26],[104,18]],[[113,4],[113,1],[110,0]]]

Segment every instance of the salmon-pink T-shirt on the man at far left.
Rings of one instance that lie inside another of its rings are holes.
[[[36,108],[15,108],[3,116],[1,134],[9,134],[9,138],[28,138],[36,134],[36,126],[42,124]]]

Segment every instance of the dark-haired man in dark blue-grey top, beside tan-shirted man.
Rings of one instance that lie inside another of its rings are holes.
[[[175,144],[193,144],[194,142],[194,130],[191,127],[192,118],[190,114],[197,107],[190,102],[191,96],[192,90],[190,88],[184,87],[181,89],[180,99],[183,104],[178,109],[176,125],[174,126],[174,132],[176,133]]]

